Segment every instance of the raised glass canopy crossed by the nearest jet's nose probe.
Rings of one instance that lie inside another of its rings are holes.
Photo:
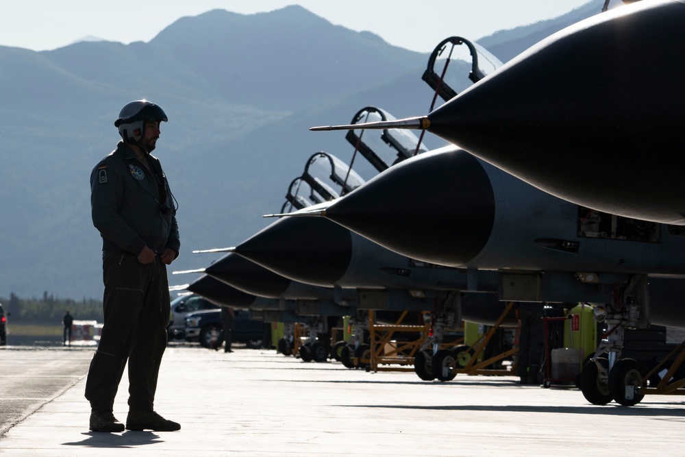
[[[397,118],[385,110],[367,106],[359,110],[352,119],[353,124],[375,121],[397,121]],[[349,130],[345,139],[379,172],[414,156],[416,146],[419,145],[419,138],[413,132],[402,129]],[[421,145],[418,152],[427,150]]]

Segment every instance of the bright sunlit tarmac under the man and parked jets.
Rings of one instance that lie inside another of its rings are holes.
[[[595,406],[575,387],[523,386],[512,376],[425,382],[275,350],[197,346],[169,347],[160,371],[155,410],[181,430],[89,432],[91,357],[80,348],[0,351],[0,410],[24,401],[0,428],[0,455],[685,456],[682,397]],[[59,373],[46,371],[53,365]],[[57,378],[42,396],[20,388]],[[124,375],[114,406],[122,422],[126,394]]]

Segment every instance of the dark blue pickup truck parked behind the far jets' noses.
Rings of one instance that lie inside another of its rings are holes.
[[[221,310],[197,311],[186,317],[186,341],[208,349],[223,344]],[[233,343],[245,343],[250,349],[264,347],[264,323],[249,318],[246,310],[234,310]]]

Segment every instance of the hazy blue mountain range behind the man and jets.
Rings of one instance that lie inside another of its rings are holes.
[[[592,1],[549,21],[465,38],[506,61],[599,8]],[[344,132],[309,127],[349,123],[366,106],[397,118],[425,114],[428,56],[295,5],[250,15],[212,10],[129,45],[0,47],[0,297],[101,297],[89,178],[116,146],[114,119],[128,101],[149,99],[169,115],[154,154],[179,205],[182,251],[170,269],[197,269],[219,256],[193,249],[236,245],[269,225],[262,214],[281,208],[313,153],[349,162]],[[444,143],[427,136],[425,144]]]

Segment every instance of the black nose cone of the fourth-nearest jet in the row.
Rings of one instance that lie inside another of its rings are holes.
[[[205,273],[240,291],[260,297],[277,298],[292,282],[233,252],[211,264]]]

